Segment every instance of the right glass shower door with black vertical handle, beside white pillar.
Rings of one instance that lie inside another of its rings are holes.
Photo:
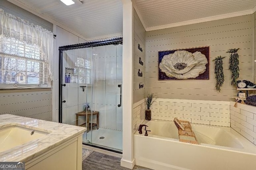
[[[92,143],[122,150],[122,45],[93,47],[92,70],[93,108],[99,112],[99,129],[93,128]]]

